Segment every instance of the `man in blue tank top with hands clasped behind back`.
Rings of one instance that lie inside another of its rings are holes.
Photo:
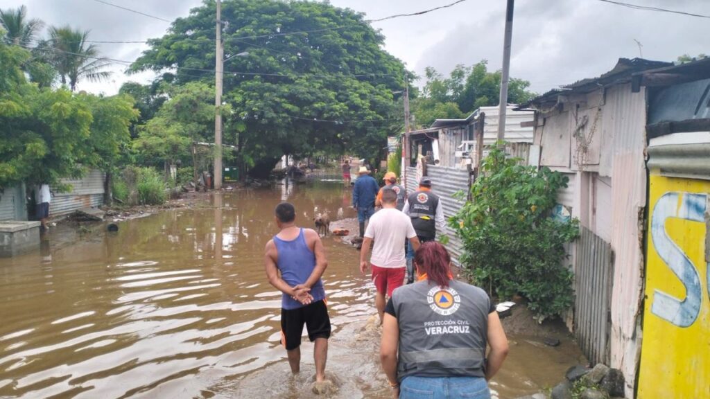
[[[296,210],[281,202],[275,209],[280,229],[266,244],[266,275],[280,290],[281,344],[288,354],[293,373],[300,371],[300,344],[303,324],[308,339],[314,342],[315,378],[322,383],[330,337],[330,318],[325,304],[325,290],[320,276],[328,266],[323,244],[312,229],[296,226]]]

